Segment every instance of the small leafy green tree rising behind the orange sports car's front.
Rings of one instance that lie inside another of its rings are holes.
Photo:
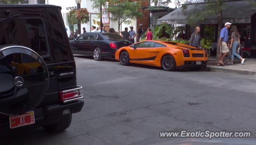
[[[131,20],[135,20],[142,16],[141,0],[133,2],[132,0],[109,0],[108,12],[112,14],[110,20],[118,24],[118,30],[120,30],[120,25],[130,24]]]

